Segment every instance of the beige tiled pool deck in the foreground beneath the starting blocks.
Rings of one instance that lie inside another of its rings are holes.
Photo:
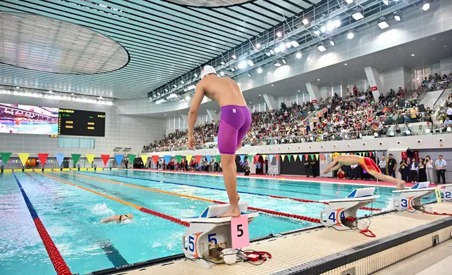
[[[437,203],[432,205],[433,210],[438,213],[451,213],[452,203]],[[117,270],[109,274],[123,274],[123,275],[167,275],[167,274],[197,274],[197,275],[211,275],[211,274],[298,274],[297,272],[305,272],[299,274],[337,274],[330,273],[331,269],[338,268],[331,264],[338,257],[343,259],[353,258],[354,261],[364,259],[355,257],[357,253],[368,248],[382,245],[382,243],[392,243],[397,241],[397,238],[410,239],[408,234],[416,234],[413,232],[421,232],[425,228],[432,229],[435,232],[438,229],[438,224],[441,224],[442,230],[446,230],[446,234],[440,235],[442,241],[449,239],[452,228],[452,217],[446,215],[429,215],[426,213],[408,213],[408,212],[392,212],[371,217],[371,226],[369,229],[376,235],[375,238],[368,238],[359,233],[359,230],[340,232],[333,228],[318,227],[314,229],[307,229],[301,232],[295,232],[284,236],[277,236],[263,241],[251,243],[251,246],[244,248],[258,251],[267,251],[272,254],[272,259],[267,260],[261,265],[254,266],[248,263],[234,264],[234,265],[214,265],[210,270],[202,269],[196,263],[184,260],[173,260],[167,262],[160,262],[152,266],[140,266],[136,269]],[[428,230],[428,229],[427,229]],[[432,234],[432,233],[429,233]],[[436,233],[435,233],[436,234]],[[418,236],[426,236],[418,235]],[[430,238],[430,237],[429,237]],[[389,241],[388,241],[389,240]],[[431,243],[431,239],[429,239]],[[399,243],[401,245],[401,243]],[[395,246],[395,245],[394,245]],[[378,248],[375,253],[380,251],[390,250],[389,246],[385,248]],[[350,257],[350,255],[354,255]],[[366,257],[373,257],[371,256]],[[341,259],[341,260],[343,260]],[[373,258],[378,264],[378,258]],[[366,260],[366,259],[364,259]],[[403,260],[403,259],[401,259]],[[326,270],[321,272],[306,271],[316,264],[327,264]],[[343,264],[345,266],[345,264]],[[347,267],[348,268],[348,267]],[[381,267],[381,268],[384,268]],[[307,273],[306,273],[307,272]],[[333,272],[333,271],[331,271]],[[340,273],[338,273],[340,274]],[[358,273],[357,273],[358,274]],[[363,273],[364,274],[364,273]]]

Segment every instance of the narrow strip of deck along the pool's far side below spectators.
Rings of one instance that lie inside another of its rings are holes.
[[[157,170],[157,169],[128,169],[128,170],[138,170],[138,171],[146,171],[146,172],[158,172],[158,173],[180,173],[180,174],[187,174],[187,175],[211,175],[215,177],[222,177],[222,173],[220,172],[201,172],[201,171],[171,171],[171,170]],[[266,179],[266,180],[274,180],[274,176],[270,175],[241,175],[238,174],[237,177],[244,177],[244,178],[260,178],[260,179]],[[377,182],[375,180],[340,180],[335,179],[331,177],[306,177],[303,175],[278,175],[276,177],[277,180],[288,180],[288,181],[303,181],[303,182],[325,182],[325,183],[335,183],[335,184],[343,184],[343,185],[370,185],[370,186],[377,186]],[[390,182],[378,182],[379,186],[384,187],[394,187],[395,186]],[[415,184],[407,182],[405,184],[405,187],[413,187]],[[430,187],[436,187],[437,185],[430,184]]]

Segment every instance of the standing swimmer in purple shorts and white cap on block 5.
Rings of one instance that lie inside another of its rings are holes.
[[[196,144],[193,129],[199,105],[201,105],[204,95],[217,102],[221,107],[218,151],[221,155],[221,168],[225,178],[230,209],[219,217],[239,217],[240,196],[237,193],[235,152],[241,148],[241,140],[251,126],[251,113],[246,106],[244,95],[242,95],[240,87],[235,81],[227,77],[220,78],[212,66],[204,67],[188,116],[188,147],[190,149],[194,149]]]

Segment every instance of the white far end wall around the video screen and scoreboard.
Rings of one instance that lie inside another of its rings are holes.
[[[149,145],[151,141],[160,140],[166,129],[166,120],[164,119],[122,116],[117,114],[115,105],[97,105],[3,94],[0,95],[0,102],[105,112],[105,137],[95,137],[95,149],[57,148],[58,138],[51,138],[48,135],[0,133],[0,152],[112,154],[114,147],[131,147],[131,153],[136,154],[141,152],[143,145]]]

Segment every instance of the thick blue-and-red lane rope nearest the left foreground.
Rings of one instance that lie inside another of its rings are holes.
[[[57,272],[58,275],[72,275],[72,272],[69,270],[69,267],[67,267],[65,260],[62,258],[60,254],[60,251],[55,246],[55,243],[53,243],[51,236],[48,234],[46,227],[44,227],[44,224],[41,222],[41,219],[39,219],[36,210],[34,210],[34,206],[32,205],[32,202],[29,200],[27,193],[25,193],[25,190],[20,184],[18,177],[15,175],[14,172],[13,175],[15,177],[15,182],[18,183],[20,192],[24,197],[25,203],[27,204],[29,213],[30,215],[32,215],[34,225],[36,226],[36,230],[39,233],[39,236],[41,237],[41,240],[44,243],[44,247],[47,250],[48,257],[51,259],[53,268],[55,268],[55,271]]]

